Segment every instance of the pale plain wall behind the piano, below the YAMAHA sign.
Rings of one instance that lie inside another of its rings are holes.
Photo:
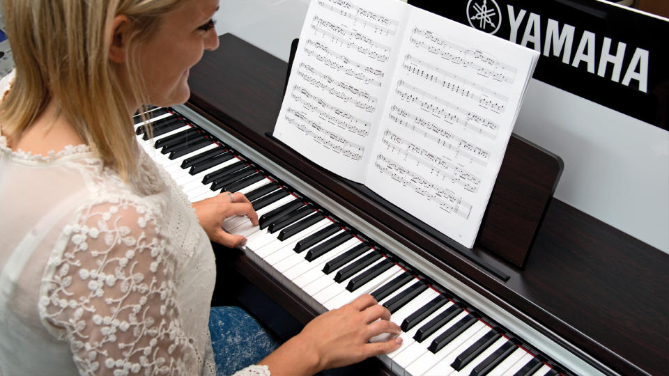
[[[308,4],[226,0],[216,26],[287,61]],[[669,253],[669,132],[535,79],[514,132],[564,160],[555,197]]]

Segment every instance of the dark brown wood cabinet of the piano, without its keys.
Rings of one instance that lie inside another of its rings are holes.
[[[267,136],[282,103],[287,64],[231,34],[220,42],[192,69],[187,107],[531,327],[551,329],[617,373],[669,374],[669,255],[555,198],[523,269],[479,245],[467,250],[445,242],[395,215],[371,191]],[[314,316],[244,256],[231,263],[298,320]]]

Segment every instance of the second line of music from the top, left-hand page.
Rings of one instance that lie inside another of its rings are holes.
[[[335,44],[342,45],[348,49],[355,49],[357,52],[367,55],[374,60],[385,62],[390,58],[389,46],[376,42],[363,33],[332,24],[332,22],[326,21],[321,17],[314,16],[311,28],[315,33],[320,33],[323,37],[330,38]]]

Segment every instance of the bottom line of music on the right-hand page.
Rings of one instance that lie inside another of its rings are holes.
[[[376,156],[374,168],[380,173],[390,176],[390,178],[399,182],[404,187],[413,189],[413,191],[423,196],[427,201],[436,203],[441,210],[457,214],[463,219],[469,218],[472,205],[463,201],[462,197],[457,196],[450,189],[430,183],[418,173],[403,168],[383,154]]]

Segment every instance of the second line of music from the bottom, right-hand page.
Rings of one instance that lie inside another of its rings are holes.
[[[430,171],[429,180],[441,180],[454,185],[461,185],[464,189],[476,193],[481,184],[481,179],[476,175],[463,169],[461,166],[440,158],[415,143],[411,143],[390,130],[383,132],[381,142],[388,152],[403,156],[404,160],[410,159],[415,166],[423,166]]]

